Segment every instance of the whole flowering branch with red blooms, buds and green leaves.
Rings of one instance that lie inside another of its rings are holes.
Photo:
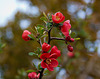
[[[59,38],[59,39],[63,39],[63,41],[65,41],[65,43],[67,44],[67,49],[68,49],[68,53],[67,56],[69,58],[73,58],[74,57],[74,53],[73,53],[73,47],[69,44],[69,42],[74,42],[74,40],[71,37],[71,34],[69,33],[70,29],[71,29],[71,24],[70,24],[70,20],[65,20],[65,16],[61,13],[61,12],[57,12],[54,15],[50,15],[52,18],[50,18],[50,16],[46,16],[44,14],[45,17],[42,17],[42,20],[46,23],[46,28],[45,26],[39,25],[37,27],[35,27],[37,35],[33,35],[31,32],[29,32],[28,30],[24,30],[23,34],[22,34],[22,38],[25,41],[29,41],[29,40],[33,40],[34,37],[36,38],[37,42],[41,45],[42,50],[40,50],[40,53],[38,51],[38,53],[31,53],[31,55],[37,55],[37,57],[39,59],[41,59],[41,67],[42,70],[40,71],[39,68],[37,68],[37,72],[31,72],[28,74],[29,79],[41,79],[43,76],[43,71],[45,68],[47,68],[49,71],[53,71],[54,67],[58,66],[58,61],[57,58],[59,56],[61,56],[60,50],[58,50],[58,48],[56,46],[53,46],[51,48],[50,41],[52,40],[53,37],[50,36],[50,31],[54,26],[57,26],[58,28],[60,28],[60,31],[62,32],[62,37],[63,38]],[[47,21],[47,22],[46,22]],[[64,22],[63,22],[64,21]],[[63,22],[63,23],[61,23]],[[45,32],[48,33],[48,44],[44,43],[42,44],[41,38],[43,38],[45,35]],[[55,39],[58,40],[57,37],[54,37]],[[50,50],[51,48],[51,50]]]

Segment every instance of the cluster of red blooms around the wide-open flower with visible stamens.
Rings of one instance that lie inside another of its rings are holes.
[[[49,50],[50,47],[49,44],[43,43],[42,50]],[[42,68],[47,68],[49,71],[53,71],[54,67],[58,66],[58,61],[56,59],[61,56],[60,50],[58,50],[56,46],[53,46],[49,53],[47,53],[47,50],[40,56],[40,59],[43,59],[41,66]]]

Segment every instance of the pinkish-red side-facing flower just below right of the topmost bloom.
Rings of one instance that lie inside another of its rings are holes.
[[[66,20],[61,26],[62,33],[67,37],[69,35],[69,29],[71,28],[70,20]]]

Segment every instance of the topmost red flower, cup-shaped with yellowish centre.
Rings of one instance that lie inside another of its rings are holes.
[[[64,19],[65,19],[65,16],[60,12],[57,12],[54,15],[52,15],[52,20],[53,20],[54,23],[60,23]]]

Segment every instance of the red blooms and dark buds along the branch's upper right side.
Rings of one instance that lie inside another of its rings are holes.
[[[52,15],[52,20],[54,23],[60,23],[62,21],[64,21],[65,17],[63,16],[62,13],[57,12],[54,15]],[[61,32],[65,35],[65,40],[67,42],[74,42],[74,39],[71,38],[71,36],[69,35],[69,30],[71,29],[71,24],[70,24],[70,20],[66,20],[62,26],[60,26]],[[69,52],[73,52],[73,47],[71,45],[67,46],[67,49]],[[68,55],[70,56],[70,55]]]

